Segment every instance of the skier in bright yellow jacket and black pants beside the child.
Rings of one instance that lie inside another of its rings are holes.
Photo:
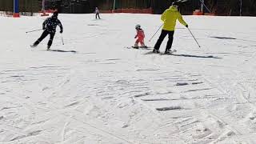
[[[161,20],[163,23],[162,32],[160,34],[160,37],[158,38],[158,42],[154,45],[154,53],[159,53],[159,48],[162,44],[163,39],[168,34],[169,40],[166,45],[166,51],[165,54],[170,53],[170,48],[173,44],[174,40],[174,29],[176,25],[176,20],[178,19],[179,22],[182,23],[182,25],[188,27],[186,22],[182,18],[182,14],[178,11],[178,2],[173,2],[169,9],[165,10],[165,12],[161,16]]]

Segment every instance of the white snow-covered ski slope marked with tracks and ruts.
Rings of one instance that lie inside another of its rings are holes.
[[[126,48],[160,15],[101,16],[59,14],[55,51],[30,48],[44,18],[0,17],[0,143],[256,143],[256,18],[184,16],[202,47],[178,24],[160,55]]]

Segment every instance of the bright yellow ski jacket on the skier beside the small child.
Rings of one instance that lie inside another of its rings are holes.
[[[169,9],[162,13],[161,20],[164,22],[162,30],[174,31],[177,19],[182,25],[187,25],[178,9],[174,6],[170,6]]]

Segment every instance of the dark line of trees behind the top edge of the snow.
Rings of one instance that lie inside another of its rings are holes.
[[[20,11],[38,12],[41,10],[41,0],[19,0]],[[204,0],[210,12],[218,15],[240,15],[256,16],[256,0]],[[62,13],[91,13],[94,7],[100,10],[113,10],[122,8],[145,9],[152,7],[154,14],[162,14],[174,0],[46,0],[46,7],[58,9]],[[242,5],[241,5],[242,2]],[[192,14],[194,10],[200,9],[200,0],[188,0],[180,6],[182,14]],[[12,11],[13,0],[0,0],[1,11]],[[205,12],[208,12],[205,9]]]

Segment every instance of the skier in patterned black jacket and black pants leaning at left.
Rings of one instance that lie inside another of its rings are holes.
[[[54,35],[56,32],[56,27],[59,26],[60,27],[60,33],[62,34],[63,32],[63,27],[62,27],[62,22],[60,22],[58,20],[58,12],[55,11],[53,16],[51,16],[50,18],[47,18],[43,23],[42,23],[42,30],[44,30],[42,32],[42,35],[40,38],[38,38],[38,40],[36,42],[34,42],[34,44],[31,47],[35,47],[38,46],[38,44],[44,39],[46,38],[46,36],[48,34],[50,34],[50,39],[48,41],[47,44],[47,50],[50,49],[51,44],[53,43],[54,40]]]

